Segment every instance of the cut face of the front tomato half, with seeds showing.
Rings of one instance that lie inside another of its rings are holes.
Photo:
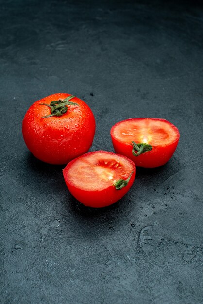
[[[126,180],[135,171],[125,156],[105,151],[84,154],[67,167],[68,183],[85,191],[101,191],[119,179]]]

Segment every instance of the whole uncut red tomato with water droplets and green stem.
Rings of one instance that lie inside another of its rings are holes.
[[[95,119],[79,98],[53,94],[31,105],[23,119],[22,134],[35,157],[50,164],[67,164],[91,147]]]

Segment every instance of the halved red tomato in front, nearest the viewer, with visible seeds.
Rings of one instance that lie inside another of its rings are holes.
[[[120,200],[135,179],[135,164],[106,151],[86,153],[63,170],[70,193],[85,206],[100,208]]]

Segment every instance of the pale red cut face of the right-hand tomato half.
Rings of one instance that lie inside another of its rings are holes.
[[[178,129],[165,119],[132,118],[118,122],[112,135],[123,143],[148,143],[153,147],[168,146],[179,138]]]

